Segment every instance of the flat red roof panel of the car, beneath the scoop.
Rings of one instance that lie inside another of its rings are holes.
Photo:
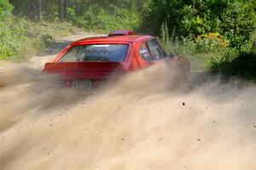
[[[88,43],[88,42],[140,42],[146,39],[154,38],[147,35],[130,35],[130,36],[111,36],[111,37],[88,37],[80,39],[73,43]]]

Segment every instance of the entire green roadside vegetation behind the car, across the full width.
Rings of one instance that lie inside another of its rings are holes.
[[[1,0],[0,59],[22,60],[55,37],[131,29],[159,37],[196,71],[256,78],[254,0]]]

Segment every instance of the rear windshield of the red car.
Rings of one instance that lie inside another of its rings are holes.
[[[90,44],[74,46],[59,61],[123,61],[128,51],[128,44]]]

